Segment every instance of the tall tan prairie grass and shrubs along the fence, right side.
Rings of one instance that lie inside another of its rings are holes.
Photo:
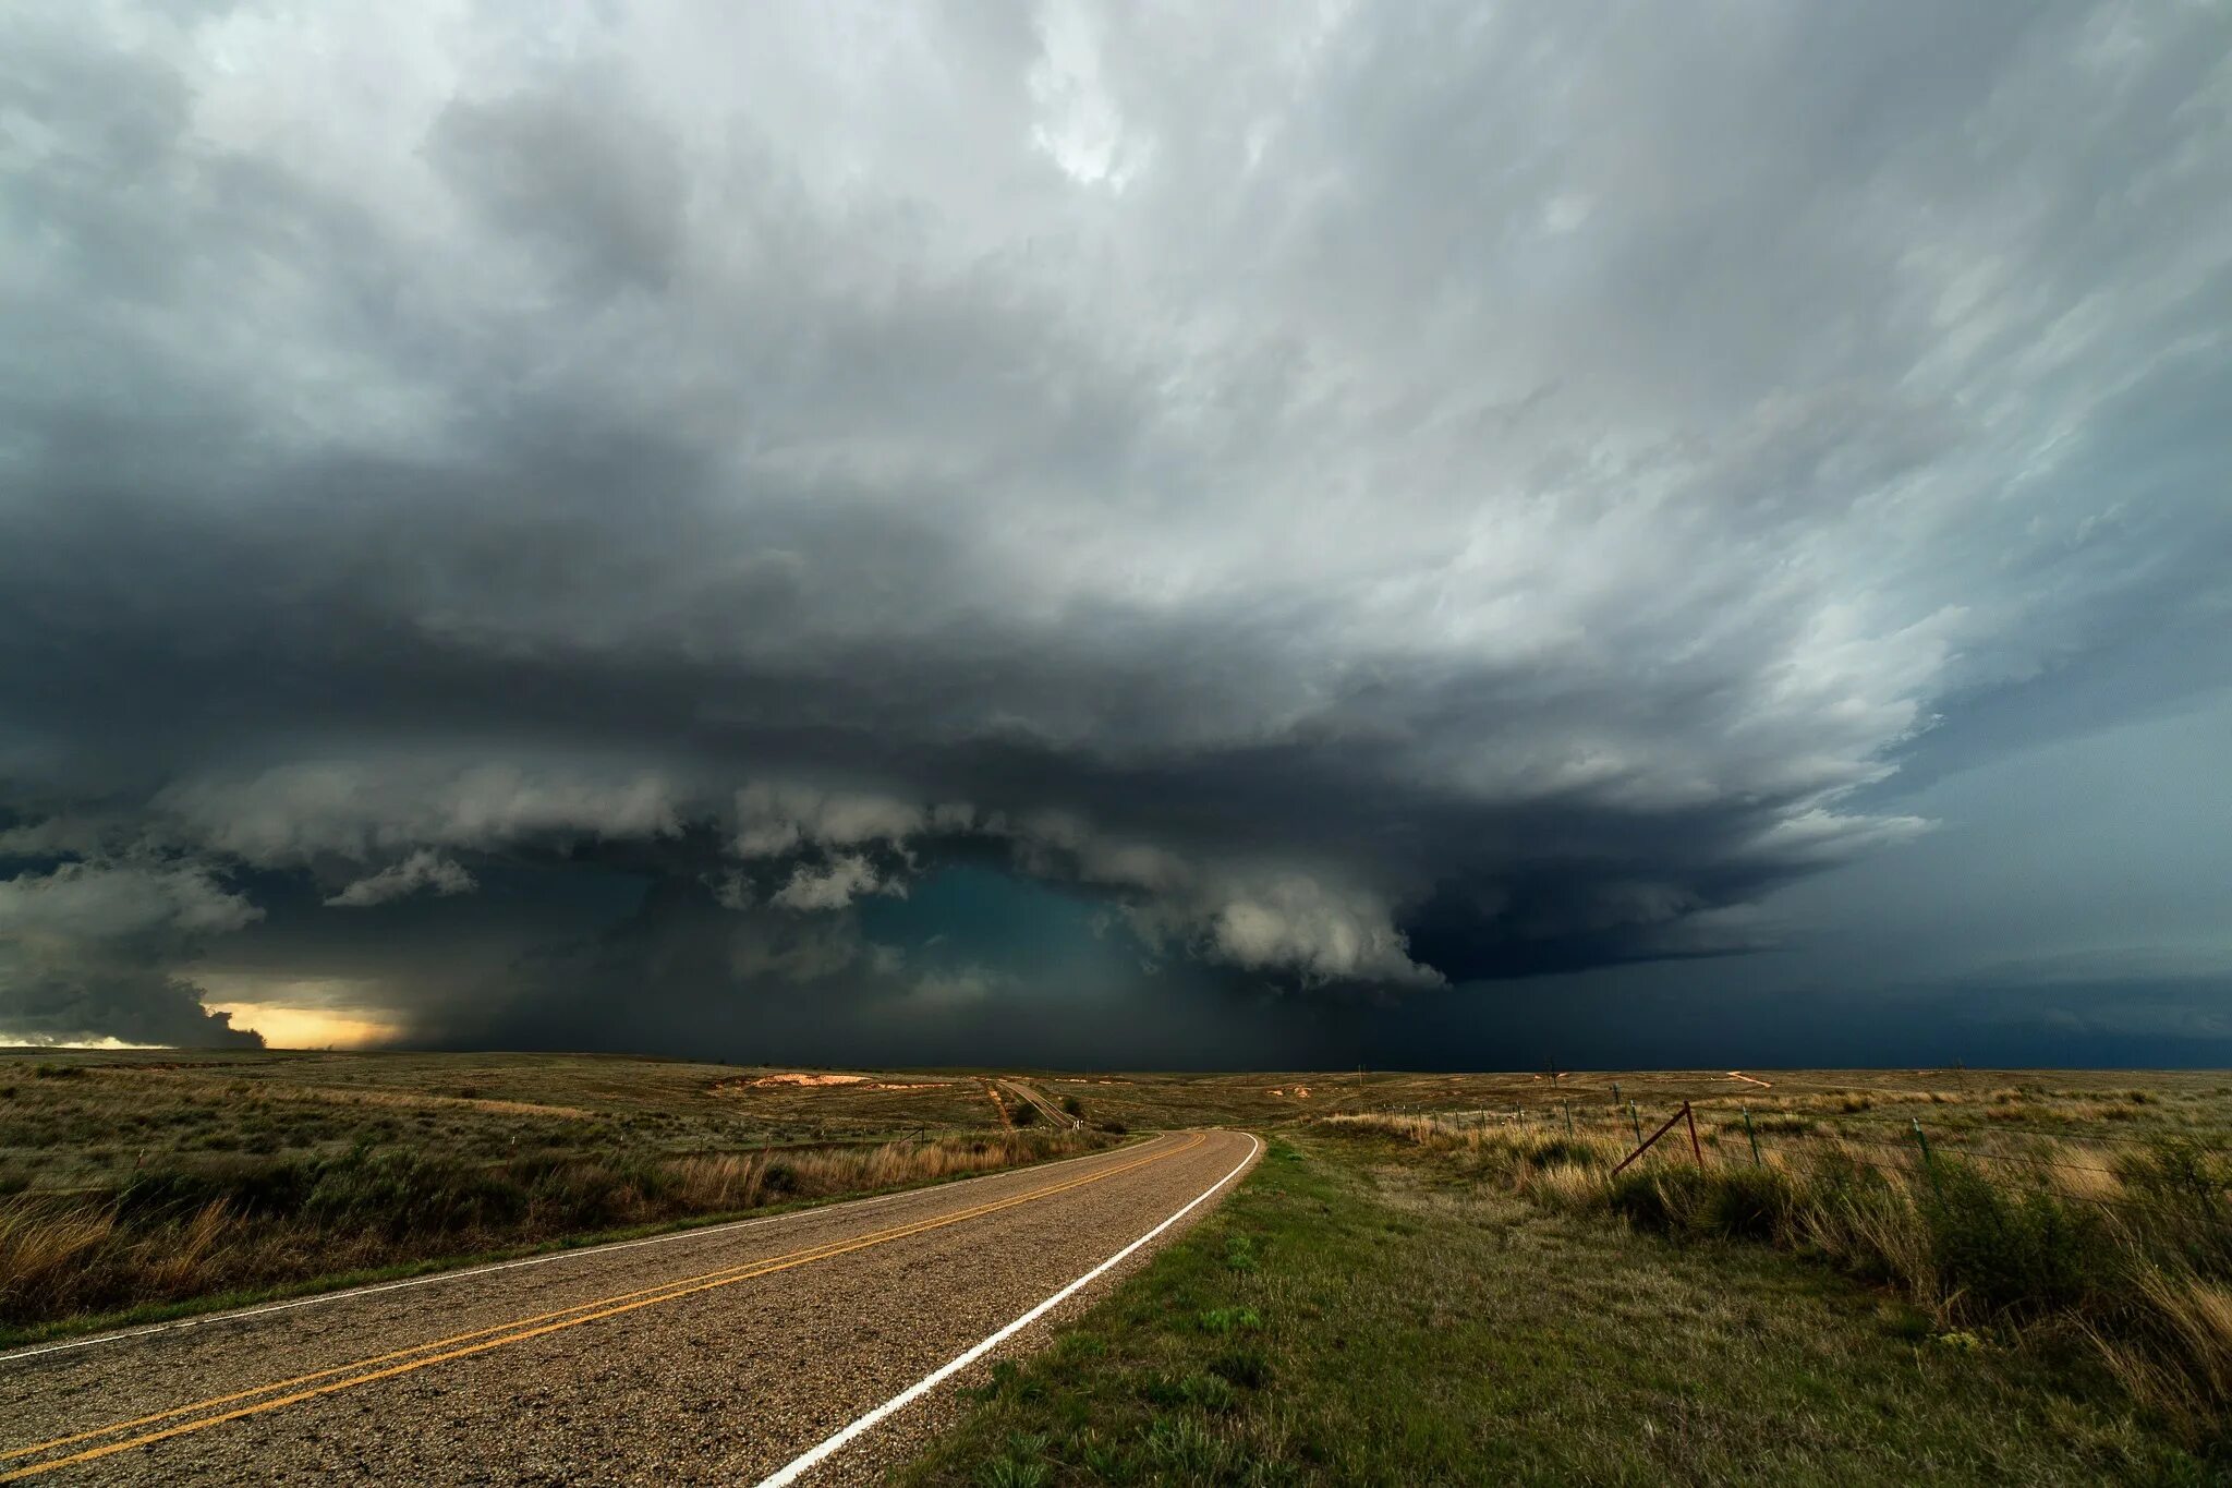
[[[1826,1133],[1774,1142],[1754,1162],[1743,1129],[1707,1113],[1703,1162],[1670,1133],[1614,1173],[1634,1140],[1603,1122],[1582,1136],[1433,1115],[1339,1115],[1319,1129],[1440,1153],[1551,1209],[1799,1252],[1893,1292],[1944,1336],[2062,1361],[2082,1343],[2187,1446],[2232,1441],[2232,1162],[2178,1136],[2020,1151],[1978,1136],[1924,1158]]]

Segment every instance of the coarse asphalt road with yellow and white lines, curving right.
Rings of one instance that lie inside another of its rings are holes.
[[[955,1383],[1205,1214],[1257,1151],[1174,1133],[0,1354],[0,1484],[877,1481]]]

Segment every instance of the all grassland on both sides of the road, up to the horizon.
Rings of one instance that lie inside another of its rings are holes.
[[[0,1336],[1194,1124],[1274,1156],[917,1481],[2232,1477],[2221,1073],[29,1051]]]

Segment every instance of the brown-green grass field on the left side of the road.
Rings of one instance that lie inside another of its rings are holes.
[[[973,1075],[799,1078],[580,1055],[0,1055],[0,1341],[1118,1138]]]

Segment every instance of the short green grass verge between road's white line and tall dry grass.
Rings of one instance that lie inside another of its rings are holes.
[[[1781,1252],[1297,1136],[895,1481],[2216,1481],[2107,1381],[1966,1343]]]

